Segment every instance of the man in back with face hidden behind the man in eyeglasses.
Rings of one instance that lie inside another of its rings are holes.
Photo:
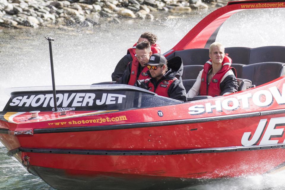
[[[128,49],[127,55],[121,58],[121,60],[118,62],[114,72],[112,73],[113,81],[117,81],[118,78],[122,77],[129,62],[134,60],[137,44],[139,44],[142,41],[148,41],[151,44],[151,51],[153,53],[160,53],[160,46],[158,44],[155,44],[157,41],[157,36],[151,32],[144,32],[138,39],[137,43],[135,43],[132,48]]]

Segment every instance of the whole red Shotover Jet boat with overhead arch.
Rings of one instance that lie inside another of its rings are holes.
[[[182,58],[189,89],[227,18],[284,7],[284,0],[229,2],[165,55]],[[225,51],[240,84],[227,96],[184,103],[129,85],[57,86],[54,112],[51,87],[12,88],[0,140],[55,189],[180,189],[283,170],[285,47]]]

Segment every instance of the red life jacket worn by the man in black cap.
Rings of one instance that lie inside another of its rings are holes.
[[[148,84],[148,90],[152,91],[154,93],[156,93],[159,96],[164,96],[164,97],[168,97],[168,89],[170,87],[170,85],[173,83],[174,80],[176,80],[177,78],[173,78],[172,80],[162,80],[159,85],[156,87],[154,87],[153,83],[151,83],[150,81],[151,78],[146,79],[144,82]],[[178,79],[177,79],[178,80]]]

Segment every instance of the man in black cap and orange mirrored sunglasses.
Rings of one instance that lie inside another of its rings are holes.
[[[138,81],[139,87],[155,92],[160,96],[187,101],[182,82],[175,77],[175,71],[167,67],[167,60],[162,54],[151,55],[146,66],[151,78]],[[179,68],[180,66],[176,67]]]

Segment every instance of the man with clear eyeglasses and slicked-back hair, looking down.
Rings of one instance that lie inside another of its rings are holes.
[[[145,66],[151,55],[151,45],[148,41],[138,43],[134,60],[129,63],[122,77],[116,81],[116,84],[136,85],[137,80],[149,78],[148,69]]]

